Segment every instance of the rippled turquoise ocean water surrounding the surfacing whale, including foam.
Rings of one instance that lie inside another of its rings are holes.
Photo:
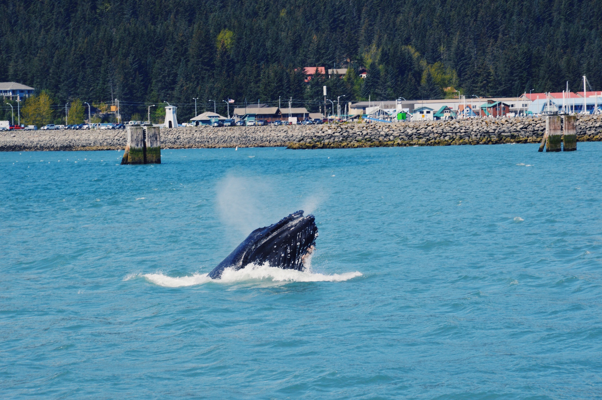
[[[602,143],[537,147],[0,153],[0,398],[600,398]]]

